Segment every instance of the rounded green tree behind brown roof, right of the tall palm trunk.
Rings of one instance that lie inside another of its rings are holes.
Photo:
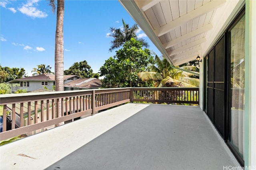
[[[93,73],[91,66],[86,60],[74,63],[68,70],[64,70],[64,75],[77,75],[82,78],[99,78],[99,74]]]

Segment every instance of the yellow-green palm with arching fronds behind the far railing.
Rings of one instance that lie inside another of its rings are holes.
[[[198,87],[199,79],[192,78],[194,74],[172,68],[165,59],[155,57],[155,64],[151,65],[151,72],[139,72],[142,81],[154,82],[154,87]],[[182,66],[184,70],[197,72],[197,66]]]

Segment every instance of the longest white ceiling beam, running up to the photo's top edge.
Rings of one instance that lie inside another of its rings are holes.
[[[180,18],[177,18],[176,20],[170,21],[166,25],[159,27],[154,32],[158,37],[160,37],[161,35],[164,35],[164,34],[170,32],[175,27],[182,25],[182,23],[186,23],[190,20],[193,20],[194,18],[202,16],[202,15],[218,8],[219,6],[224,4],[224,2],[226,2],[226,0],[212,0],[208,3],[206,3],[205,5],[200,6],[200,7],[196,8],[195,10],[181,16]]]

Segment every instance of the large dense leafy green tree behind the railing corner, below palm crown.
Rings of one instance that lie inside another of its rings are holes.
[[[116,59],[110,57],[100,67],[100,76],[104,76],[102,87],[145,87],[147,82],[138,79],[138,73],[148,71],[148,64],[154,59],[149,49],[142,49],[142,42],[131,38],[122,49],[116,51]]]

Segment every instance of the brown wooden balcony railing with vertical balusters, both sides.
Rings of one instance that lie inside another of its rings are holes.
[[[55,125],[94,115],[126,102],[198,104],[198,88],[114,88],[0,95],[3,131],[0,140],[31,135]],[[12,128],[7,131],[7,112]]]

